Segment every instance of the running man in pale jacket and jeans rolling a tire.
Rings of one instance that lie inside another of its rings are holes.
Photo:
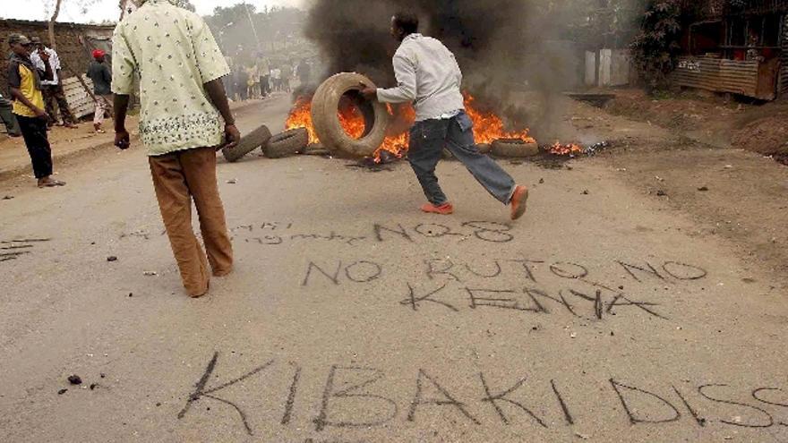
[[[492,158],[476,149],[473,122],[465,112],[460,90],[462,72],[457,60],[439,40],[419,34],[418,26],[418,17],[413,13],[397,13],[391,18],[391,35],[401,42],[394,55],[398,86],[364,87],[362,95],[383,103],[413,103],[416,116],[407,158],[429,200],[421,209],[441,215],[454,212],[435,176],[435,166],[446,148],[487,192],[510,205],[513,220],[522,217],[526,212],[527,187],[518,186]]]

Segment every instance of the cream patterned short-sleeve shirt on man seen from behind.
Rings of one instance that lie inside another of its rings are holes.
[[[200,16],[148,0],[118,23],[112,60],[116,94],[131,95],[140,76],[140,135],[149,156],[221,144],[224,123],[203,85],[229,68]]]

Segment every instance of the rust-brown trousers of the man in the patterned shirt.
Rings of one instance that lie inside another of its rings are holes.
[[[186,292],[199,297],[208,292],[210,272],[226,276],[233,269],[233,245],[216,182],[216,149],[186,149],[149,157],[158,208],[181,271]],[[192,200],[208,260],[192,229]]]

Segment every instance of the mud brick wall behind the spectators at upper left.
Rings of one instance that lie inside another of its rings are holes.
[[[57,55],[63,64],[64,78],[72,77],[73,73],[85,73],[90,64],[90,42],[87,38],[105,40],[112,38],[115,26],[97,26],[77,23],[56,23],[55,38]],[[0,47],[3,48],[2,64],[0,64],[0,92],[8,93],[8,36],[19,33],[41,38],[49,45],[48,23],[46,21],[0,20]],[[83,43],[84,42],[84,43]],[[6,95],[7,97],[7,95]]]

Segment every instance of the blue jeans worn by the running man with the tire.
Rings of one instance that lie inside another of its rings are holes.
[[[514,180],[492,158],[476,149],[473,125],[470,117],[461,112],[450,119],[416,122],[411,128],[407,159],[424,195],[433,205],[440,206],[448,201],[435,176],[435,166],[444,148],[449,149],[492,197],[505,205],[510,203]]]

